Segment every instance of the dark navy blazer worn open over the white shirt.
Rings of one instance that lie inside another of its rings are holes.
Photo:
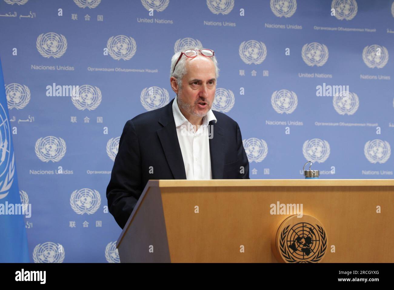
[[[186,179],[173,101],[139,114],[123,128],[106,193],[108,209],[121,228],[126,225],[148,180]],[[213,130],[209,130],[213,134],[209,139],[212,179],[249,179],[249,161],[238,123],[221,112],[213,112],[217,123],[214,120],[209,123]]]

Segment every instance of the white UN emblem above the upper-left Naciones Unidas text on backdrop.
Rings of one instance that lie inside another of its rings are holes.
[[[40,34],[35,43],[37,51],[46,58],[59,58],[67,49],[67,39],[63,35],[54,32]]]

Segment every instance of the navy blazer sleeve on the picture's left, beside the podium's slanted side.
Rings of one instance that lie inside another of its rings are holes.
[[[107,187],[108,210],[123,229],[141,196],[141,156],[136,128],[128,120],[119,140]]]

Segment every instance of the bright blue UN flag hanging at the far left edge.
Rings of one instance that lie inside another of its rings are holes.
[[[0,262],[28,263],[24,218],[31,206],[22,204],[9,122],[3,70],[0,61]]]

